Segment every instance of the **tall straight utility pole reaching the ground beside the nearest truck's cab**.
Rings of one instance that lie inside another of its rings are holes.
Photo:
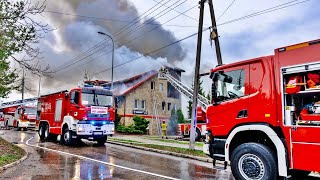
[[[202,45],[202,29],[203,29],[203,14],[204,3],[206,0],[200,0],[200,15],[199,15],[199,27],[198,27],[198,44],[197,44],[197,57],[194,71],[194,84],[193,84],[193,102],[191,113],[191,131],[190,131],[190,144],[189,148],[194,150],[195,134],[197,133],[197,105],[198,105],[198,91],[199,91],[199,70],[200,70],[200,58],[201,58],[201,45]]]

